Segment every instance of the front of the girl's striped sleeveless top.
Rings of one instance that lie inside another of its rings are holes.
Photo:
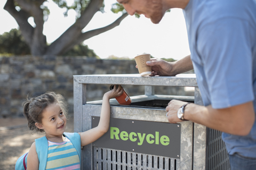
[[[62,143],[48,141],[47,170],[80,169],[76,148],[68,138]]]

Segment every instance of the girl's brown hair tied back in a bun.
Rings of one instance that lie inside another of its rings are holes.
[[[42,123],[44,109],[51,104],[58,103],[62,109],[63,114],[67,115],[67,103],[63,96],[55,94],[55,92],[46,92],[45,94],[30,98],[23,103],[23,115],[28,120],[28,128],[35,132],[44,132],[38,129],[35,125],[36,122]]]

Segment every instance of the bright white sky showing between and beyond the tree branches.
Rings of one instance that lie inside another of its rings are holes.
[[[0,1],[0,34],[13,28],[18,29],[17,22],[3,9],[6,1]],[[121,16],[121,13],[114,14],[110,11],[111,4],[115,2],[116,0],[105,0],[105,12],[97,12],[83,31],[105,27]],[[51,13],[44,23],[43,33],[47,43],[52,43],[75,22],[75,11],[69,10],[68,17],[65,18],[65,10],[51,0],[45,5]],[[35,25],[33,18],[28,21]],[[190,54],[185,19],[182,10],[178,8],[165,13],[159,24],[151,23],[144,15],[139,19],[129,15],[114,29],[87,39],[84,44],[102,59],[111,55],[134,58],[138,54],[149,53],[156,58],[179,60]]]

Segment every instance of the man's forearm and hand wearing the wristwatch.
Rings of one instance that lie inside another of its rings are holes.
[[[177,112],[185,103],[179,100],[170,101],[166,107],[169,122],[181,122]],[[247,135],[254,124],[255,113],[252,101],[223,109],[214,109],[211,105],[205,107],[189,104],[185,107],[184,118],[222,132]]]

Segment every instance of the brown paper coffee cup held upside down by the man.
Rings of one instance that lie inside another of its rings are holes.
[[[151,66],[147,65],[146,62],[150,61],[150,54],[140,54],[134,57],[137,64],[139,73],[141,76],[146,76],[151,74]]]

